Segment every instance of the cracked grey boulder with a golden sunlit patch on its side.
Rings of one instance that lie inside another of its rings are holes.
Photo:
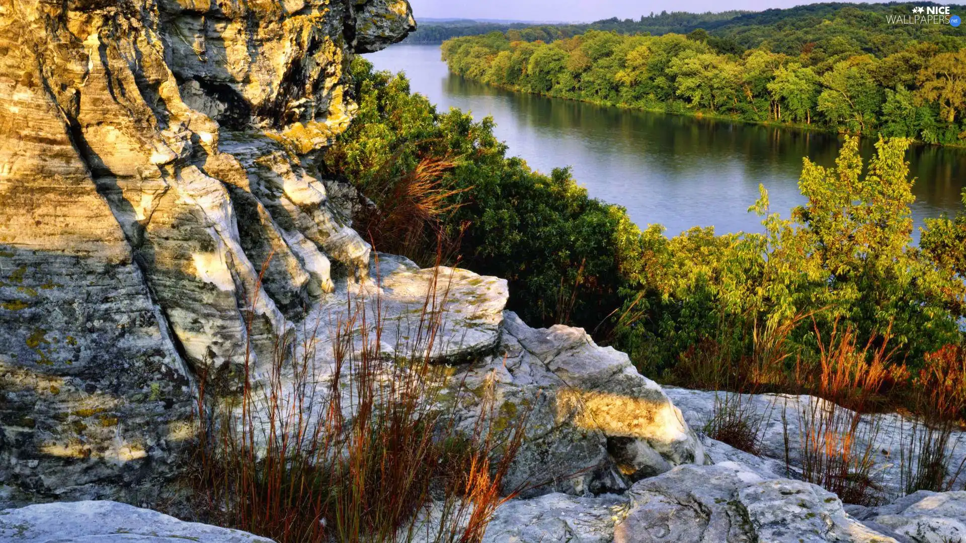
[[[696,434],[661,386],[624,353],[602,348],[582,329],[531,329],[505,312],[497,352],[457,367],[449,401],[467,431],[492,390],[493,421],[526,419],[526,439],[506,490],[599,494],[641,477],[703,463]],[[491,388],[492,387],[492,388]]]

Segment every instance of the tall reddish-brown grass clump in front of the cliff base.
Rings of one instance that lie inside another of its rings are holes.
[[[206,520],[279,543],[481,540],[515,495],[503,477],[523,419],[497,433],[483,409],[473,432],[456,431],[455,411],[441,407],[451,384],[429,356],[443,313],[435,282],[410,355],[381,352],[378,297],[350,296],[330,337],[317,326],[281,338],[268,367],[246,357],[240,394],[207,398],[202,386],[195,478]]]

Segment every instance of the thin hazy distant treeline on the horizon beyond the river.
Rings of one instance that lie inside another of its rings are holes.
[[[496,23],[477,22],[473,20],[454,20],[445,22],[420,22],[418,29],[410,34],[406,43],[443,43],[451,38],[461,36],[479,36],[491,32],[505,32],[513,40],[524,42],[553,42],[563,38],[571,38],[588,30],[603,30],[618,34],[649,33],[654,35],[669,32],[690,32],[699,26],[709,26],[733,19],[741,14],[752,12],[731,11],[721,14],[690,14],[687,12],[661,12],[635,19],[618,19],[612,17],[583,24],[539,24],[526,22]]]

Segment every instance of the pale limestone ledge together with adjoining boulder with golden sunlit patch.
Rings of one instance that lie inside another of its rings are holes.
[[[355,348],[372,349],[358,338],[372,341],[381,315],[383,356],[419,359],[430,347],[423,305],[433,299],[438,311],[430,312],[439,314],[440,324],[429,354],[452,366],[438,400],[442,412],[455,416],[456,430],[467,434],[478,430],[483,409],[497,435],[525,421],[526,439],[504,477],[507,493],[521,486],[523,496],[621,492],[641,477],[705,461],[697,435],[627,355],[598,347],[582,329],[527,327],[503,311],[505,280],[451,268],[420,270],[385,254],[374,259],[369,274],[352,286],[337,281],[335,292],[306,318],[310,337],[299,344],[312,346],[317,394],[329,393],[335,372],[354,371],[333,363],[336,328],[352,323]],[[338,405],[351,418],[353,384],[361,380],[348,381]],[[268,417],[257,412],[256,418]]]

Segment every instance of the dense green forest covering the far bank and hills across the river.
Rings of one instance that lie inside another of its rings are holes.
[[[909,11],[817,4],[687,35],[590,30],[550,43],[511,30],[449,40],[442,55],[457,74],[522,92],[963,144],[964,31],[887,18]]]

